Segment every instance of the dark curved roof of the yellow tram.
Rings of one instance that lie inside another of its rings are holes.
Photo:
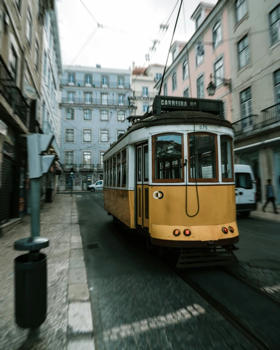
[[[232,124],[225,120],[224,117],[220,117],[211,113],[200,112],[200,111],[175,111],[175,112],[163,112],[160,114],[148,114],[144,116],[139,116],[140,120],[136,121],[128,131],[123,134],[112,146],[105,152],[107,153],[111,148],[113,148],[120,140],[126,137],[131,132],[147,128],[150,126],[158,125],[178,125],[178,124],[211,124],[218,126],[225,126],[227,128],[233,129]]]

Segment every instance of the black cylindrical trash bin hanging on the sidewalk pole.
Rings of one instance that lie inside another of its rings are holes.
[[[15,259],[15,314],[18,326],[36,328],[47,317],[47,256],[24,254]]]

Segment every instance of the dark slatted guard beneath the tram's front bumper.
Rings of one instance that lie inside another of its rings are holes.
[[[181,248],[176,268],[228,265],[236,260],[233,250],[222,247],[215,250]]]

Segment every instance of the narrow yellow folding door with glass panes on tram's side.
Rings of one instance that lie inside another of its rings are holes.
[[[137,224],[149,227],[148,144],[137,146]]]

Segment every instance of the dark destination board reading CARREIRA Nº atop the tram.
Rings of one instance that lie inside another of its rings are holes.
[[[162,112],[173,111],[206,112],[224,119],[223,101],[221,100],[156,95],[153,102],[153,113],[158,115]]]

